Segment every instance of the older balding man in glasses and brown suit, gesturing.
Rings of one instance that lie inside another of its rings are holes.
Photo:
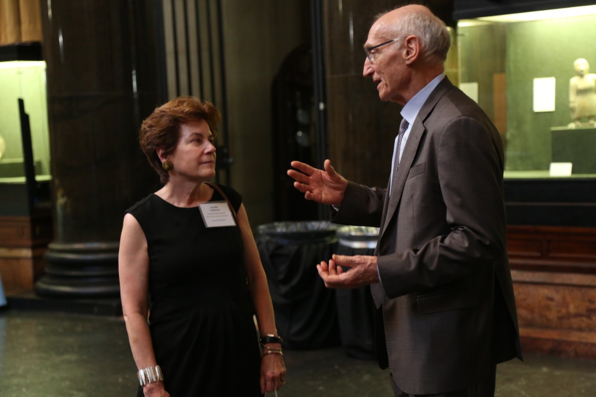
[[[333,255],[317,268],[328,287],[371,285],[379,364],[396,396],[493,396],[496,364],[522,358],[502,143],[443,74],[449,45],[445,24],[421,5],[370,29],[364,76],[381,100],[403,105],[387,189],[349,182],[329,160],[288,170],[306,199],[333,205],[333,221],[380,226],[374,256]]]

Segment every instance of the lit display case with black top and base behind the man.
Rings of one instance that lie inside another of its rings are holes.
[[[510,224],[596,226],[596,124],[570,108],[574,62],[596,84],[596,1],[460,0],[458,84],[505,148]],[[596,86],[583,87],[594,100]],[[585,96],[583,98],[586,98]]]

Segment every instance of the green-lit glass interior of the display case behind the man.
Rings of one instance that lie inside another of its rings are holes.
[[[505,179],[596,178],[596,5],[460,19],[457,34],[460,87],[501,134]]]

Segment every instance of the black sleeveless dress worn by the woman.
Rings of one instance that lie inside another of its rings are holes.
[[[240,194],[220,187],[238,211]],[[222,200],[214,191],[211,201]],[[176,207],[154,194],[126,212],[147,239],[149,327],[167,392],[261,396],[260,347],[240,228],[207,229],[197,207]]]

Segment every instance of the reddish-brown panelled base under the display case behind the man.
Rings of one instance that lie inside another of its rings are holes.
[[[522,349],[596,358],[596,229],[509,226]]]

